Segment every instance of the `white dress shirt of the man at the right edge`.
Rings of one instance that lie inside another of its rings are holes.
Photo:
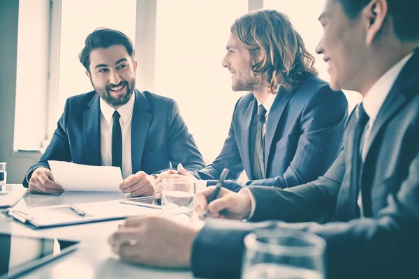
[[[399,76],[402,68],[406,64],[406,62],[411,58],[413,52],[404,56],[402,60],[397,62],[395,66],[392,66],[390,70],[388,70],[382,77],[380,77],[376,83],[369,89],[367,94],[365,95],[364,100],[362,100],[362,106],[364,107],[365,113],[369,116],[369,121],[367,126],[364,130],[363,135],[363,144],[360,146],[360,153],[362,162],[365,160],[365,156],[367,156],[367,151],[369,148],[369,136],[371,135],[372,126],[374,125],[374,121],[380,111],[385,98],[387,98],[388,93],[392,86],[395,84],[397,77]],[[361,218],[364,216],[364,211],[362,208],[362,191],[360,189],[358,195],[358,206],[360,207],[360,216]]]

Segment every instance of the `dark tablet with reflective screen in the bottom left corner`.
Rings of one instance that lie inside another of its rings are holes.
[[[78,241],[0,233],[0,279],[16,278],[78,247]]]

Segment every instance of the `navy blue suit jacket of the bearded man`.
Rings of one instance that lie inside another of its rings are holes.
[[[101,165],[101,108],[95,91],[68,98],[57,130],[41,160],[28,170],[48,167],[47,160]],[[159,172],[182,163],[189,171],[205,167],[175,100],[135,90],[131,123],[133,174]],[[23,181],[28,186],[27,179]]]

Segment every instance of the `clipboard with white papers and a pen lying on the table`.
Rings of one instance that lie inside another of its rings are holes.
[[[8,209],[6,216],[31,227],[44,229],[108,220],[118,220],[131,216],[159,213],[159,209],[146,208],[112,202],[87,202],[80,204],[63,204],[59,206],[43,206],[29,209]]]

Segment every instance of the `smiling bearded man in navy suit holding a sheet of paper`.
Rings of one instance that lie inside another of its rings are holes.
[[[50,145],[23,181],[30,192],[63,191],[47,160],[121,167],[119,188],[132,196],[153,195],[156,176],[149,174],[171,164],[205,167],[175,100],[135,89],[135,50],[124,33],[96,29],[80,62],[94,91],[68,98]]]

